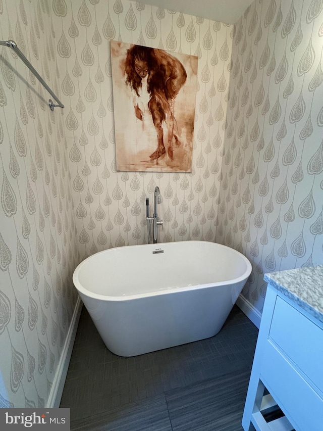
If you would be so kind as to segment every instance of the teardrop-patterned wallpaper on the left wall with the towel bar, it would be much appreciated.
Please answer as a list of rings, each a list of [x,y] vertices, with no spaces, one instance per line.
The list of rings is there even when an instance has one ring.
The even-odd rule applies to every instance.
[[[46,0],[2,0],[0,37],[60,95],[51,15]],[[77,299],[65,120],[8,47],[0,69],[0,408],[43,407]]]

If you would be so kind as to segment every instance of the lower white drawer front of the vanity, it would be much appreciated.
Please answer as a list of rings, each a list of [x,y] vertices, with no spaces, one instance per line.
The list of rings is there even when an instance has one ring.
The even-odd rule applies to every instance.
[[[323,399],[266,341],[260,379],[297,431],[322,431]]]

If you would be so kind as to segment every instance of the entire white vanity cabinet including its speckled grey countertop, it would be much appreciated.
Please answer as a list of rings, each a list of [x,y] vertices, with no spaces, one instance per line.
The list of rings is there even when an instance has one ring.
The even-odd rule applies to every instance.
[[[312,268],[265,274],[268,287],[242,419],[245,431],[323,430],[323,267]],[[303,270],[309,273],[302,279]],[[284,273],[296,277],[296,287]],[[278,407],[280,417],[271,413],[266,419]]]

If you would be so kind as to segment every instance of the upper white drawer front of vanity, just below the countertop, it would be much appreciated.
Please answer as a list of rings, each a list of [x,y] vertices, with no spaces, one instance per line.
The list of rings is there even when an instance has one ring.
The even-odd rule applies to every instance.
[[[277,297],[269,337],[323,393],[323,329]]]

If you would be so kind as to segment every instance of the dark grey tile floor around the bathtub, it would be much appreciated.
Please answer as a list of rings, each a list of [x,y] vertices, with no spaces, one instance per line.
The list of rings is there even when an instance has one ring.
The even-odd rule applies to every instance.
[[[71,409],[71,429],[241,430],[257,334],[235,306],[215,337],[122,358],[83,307],[61,407]]]

